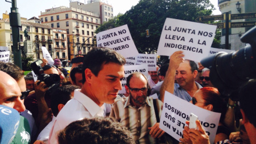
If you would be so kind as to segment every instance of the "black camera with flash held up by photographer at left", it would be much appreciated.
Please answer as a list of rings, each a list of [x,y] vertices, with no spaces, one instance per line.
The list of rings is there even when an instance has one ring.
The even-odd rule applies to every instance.
[[[41,67],[42,63],[43,61],[41,59],[38,59],[32,62],[30,65],[34,73],[37,75],[37,79],[40,82],[44,82],[46,84],[46,87],[49,87],[49,89],[51,89],[51,87],[55,87],[55,85],[59,85],[60,76],[57,74],[50,74],[50,75],[44,74],[44,70]],[[39,84],[40,82],[38,82],[37,84]]]

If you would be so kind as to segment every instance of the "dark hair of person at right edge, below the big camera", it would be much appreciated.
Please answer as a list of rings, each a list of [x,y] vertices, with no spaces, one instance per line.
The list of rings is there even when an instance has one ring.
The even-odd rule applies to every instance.
[[[241,87],[239,91],[240,108],[243,109],[249,122],[256,127],[256,79],[252,79]]]

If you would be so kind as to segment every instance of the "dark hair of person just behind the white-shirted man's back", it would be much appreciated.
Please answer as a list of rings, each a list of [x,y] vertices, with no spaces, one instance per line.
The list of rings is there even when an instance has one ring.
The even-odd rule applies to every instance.
[[[58,105],[66,105],[66,103],[71,99],[71,93],[75,89],[80,88],[76,85],[65,85],[58,87],[58,89],[51,93],[51,109],[54,116],[57,116],[59,113]]]

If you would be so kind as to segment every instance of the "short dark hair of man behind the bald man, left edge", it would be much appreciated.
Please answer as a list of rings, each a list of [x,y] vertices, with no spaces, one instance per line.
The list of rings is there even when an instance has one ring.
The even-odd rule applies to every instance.
[[[0,61],[0,70],[9,74],[15,81],[19,81],[22,77],[24,77],[23,70],[20,67],[14,65],[13,63],[6,63]]]

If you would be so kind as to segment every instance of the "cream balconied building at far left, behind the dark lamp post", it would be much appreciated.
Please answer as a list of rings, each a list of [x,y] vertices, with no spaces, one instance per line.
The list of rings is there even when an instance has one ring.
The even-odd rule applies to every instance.
[[[13,43],[12,43],[12,28],[10,26],[9,15],[3,14],[3,18],[0,20],[0,46],[9,47],[10,62],[13,62]],[[35,60],[37,58],[43,58],[42,46],[45,46],[47,50],[51,51],[53,31],[51,26],[41,23],[34,23],[27,21],[26,18],[21,19],[20,29],[20,46],[21,49],[25,48],[27,56],[32,56]],[[27,41],[24,35],[24,30],[28,31]]]

